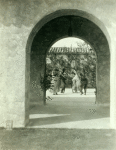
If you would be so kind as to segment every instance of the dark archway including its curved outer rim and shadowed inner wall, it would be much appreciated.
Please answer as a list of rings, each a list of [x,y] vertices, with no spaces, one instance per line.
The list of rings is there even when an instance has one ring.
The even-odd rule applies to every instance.
[[[41,91],[40,78],[45,72],[46,53],[55,41],[68,37],[69,18],[72,20],[72,36],[88,41],[97,54],[97,103],[110,102],[110,50],[106,39],[107,32],[96,18],[93,17],[91,21],[92,17],[82,11],[60,10],[46,16],[35,26],[27,43],[26,98],[31,103],[45,102],[45,91]]]

